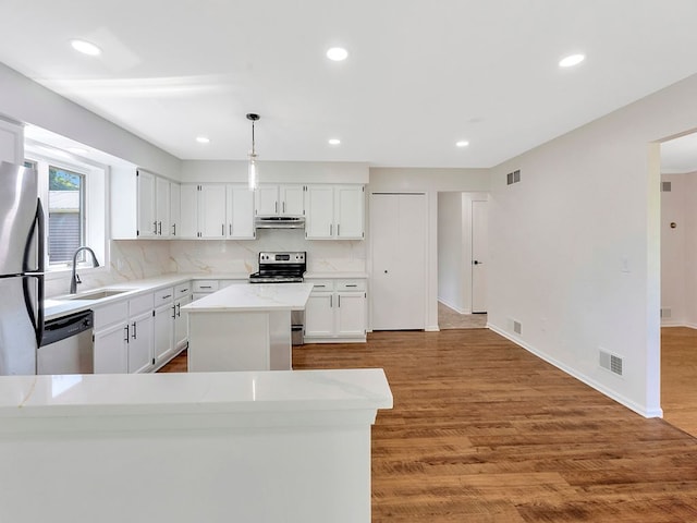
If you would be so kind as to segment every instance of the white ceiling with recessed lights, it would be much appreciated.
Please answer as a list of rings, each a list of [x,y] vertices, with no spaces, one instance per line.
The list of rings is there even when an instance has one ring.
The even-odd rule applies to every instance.
[[[491,167],[697,73],[695,21],[695,0],[2,0],[0,62],[182,159],[244,159],[258,112],[260,160]]]

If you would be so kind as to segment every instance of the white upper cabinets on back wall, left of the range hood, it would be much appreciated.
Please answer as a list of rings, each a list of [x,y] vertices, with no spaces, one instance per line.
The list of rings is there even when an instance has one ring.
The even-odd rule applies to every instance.
[[[181,238],[254,240],[254,193],[244,184],[182,184]]]

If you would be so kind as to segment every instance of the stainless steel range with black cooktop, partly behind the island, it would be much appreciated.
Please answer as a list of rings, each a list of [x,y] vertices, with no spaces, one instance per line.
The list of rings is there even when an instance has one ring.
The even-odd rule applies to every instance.
[[[259,271],[249,275],[249,283],[302,283],[307,253],[259,253]],[[304,343],[305,311],[291,312],[291,340]]]

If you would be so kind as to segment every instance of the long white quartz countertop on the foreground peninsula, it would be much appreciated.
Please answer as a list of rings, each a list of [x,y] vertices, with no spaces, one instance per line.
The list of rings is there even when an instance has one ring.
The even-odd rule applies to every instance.
[[[381,368],[0,379],[0,419],[391,408]]]

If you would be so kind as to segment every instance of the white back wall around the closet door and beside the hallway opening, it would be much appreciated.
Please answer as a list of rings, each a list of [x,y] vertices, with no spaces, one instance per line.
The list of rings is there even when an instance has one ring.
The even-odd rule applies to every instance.
[[[370,168],[368,194],[425,193],[428,200],[426,330],[438,330],[438,193],[489,191],[488,169]],[[366,231],[370,231],[367,217]],[[370,258],[370,253],[367,255]]]

